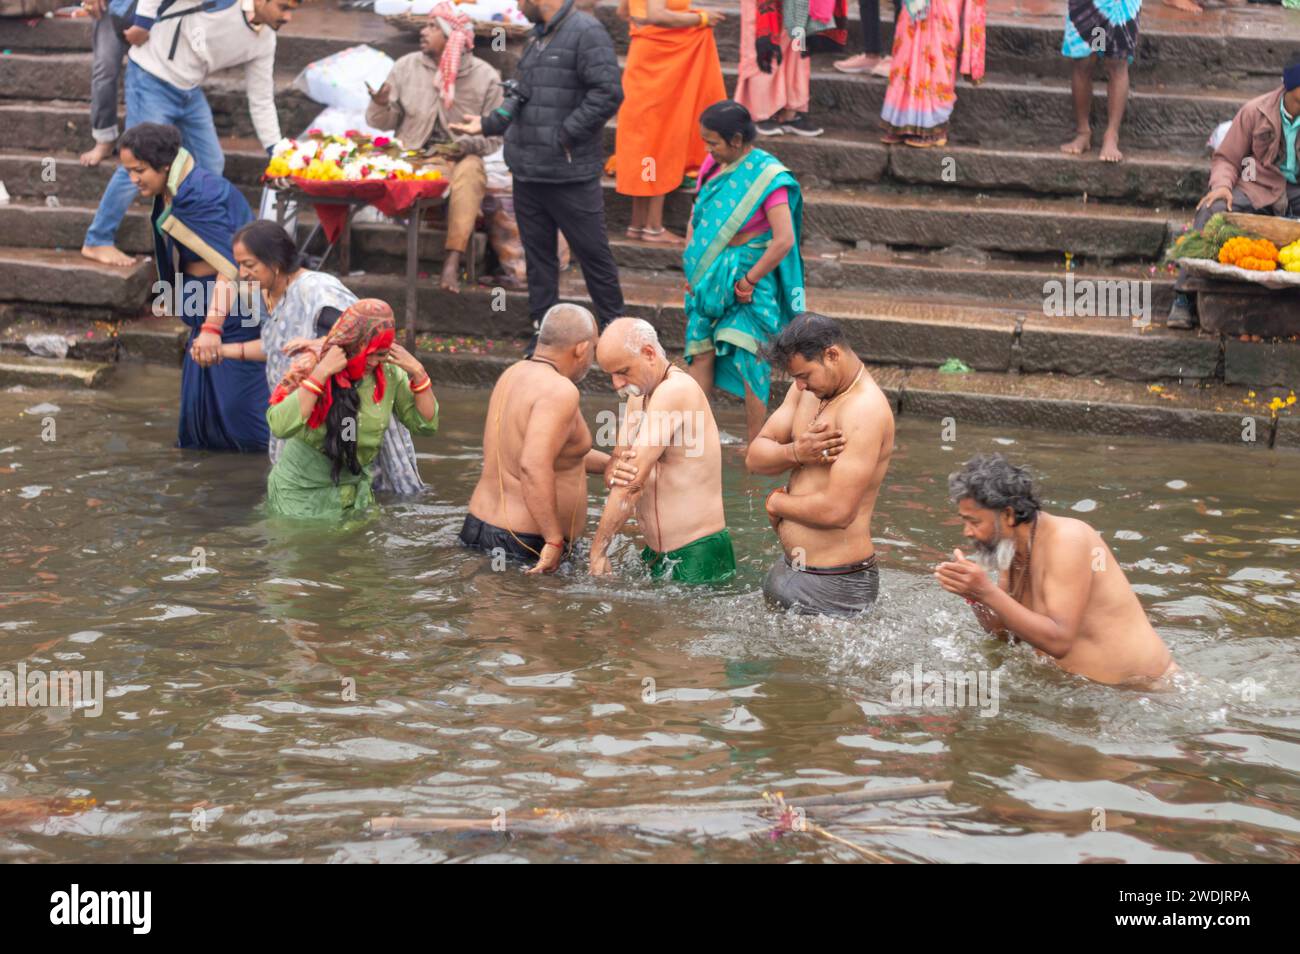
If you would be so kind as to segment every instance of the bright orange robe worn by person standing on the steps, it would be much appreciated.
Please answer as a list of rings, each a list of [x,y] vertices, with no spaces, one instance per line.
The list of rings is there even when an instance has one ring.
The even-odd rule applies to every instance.
[[[684,12],[690,0],[668,0]],[[646,16],[645,0],[630,0],[633,18]],[[699,114],[727,99],[714,31],[707,26],[629,27],[623,105],[614,144],[620,195],[666,195],[705,160]]]

